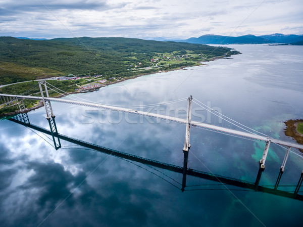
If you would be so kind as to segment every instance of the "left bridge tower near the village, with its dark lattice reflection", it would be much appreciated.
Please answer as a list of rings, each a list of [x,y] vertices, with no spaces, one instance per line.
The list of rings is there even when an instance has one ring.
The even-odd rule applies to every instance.
[[[43,87],[44,87],[44,90],[43,90]],[[55,121],[56,116],[54,115],[51,101],[45,100],[45,98],[44,98],[44,92],[45,92],[46,97],[47,98],[49,97],[45,80],[39,81],[39,88],[40,88],[42,101],[43,101],[45,111],[46,111],[46,119],[48,120],[49,128],[51,128],[55,149],[58,150],[59,148],[61,148],[61,143],[60,143],[60,139],[58,137],[58,130],[57,130],[57,125],[56,125],[56,121]],[[58,144],[56,142],[56,137],[58,139]]]

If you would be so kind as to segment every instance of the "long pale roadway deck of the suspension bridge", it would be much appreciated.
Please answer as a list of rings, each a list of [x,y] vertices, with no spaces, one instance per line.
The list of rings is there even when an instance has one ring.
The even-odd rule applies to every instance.
[[[16,96],[16,95],[6,95],[6,94],[0,94],[0,96],[6,96],[6,97],[12,97],[12,98],[17,97],[19,99],[42,100],[42,97],[35,97],[35,96]],[[60,103],[67,103],[67,104],[75,104],[75,105],[81,105],[81,106],[88,106],[88,107],[93,107],[93,108],[102,108],[102,109],[121,111],[121,112],[149,116],[149,117],[154,117],[154,118],[160,118],[163,120],[169,120],[169,121],[173,121],[173,122],[186,124],[186,119],[182,119],[182,118],[177,118],[177,117],[172,117],[172,116],[167,116],[167,115],[162,115],[162,114],[157,114],[157,113],[149,113],[149,112],[144,112],[144,111],[139,111],[139,110],[132,110],[132,109],[110,106],[110,105],[105,105],[105,104],[88,103],[88,102],[58,99],[58,98],[44,98],[44,100],[60,102]],[[299,144],[295,144],[295,143],[291,143],[291,142],[287,142],[287,141],[282,141],[282,140],[277,140],[277,139],[273,139],[273,138],[267,138],[267,137],[263,137],[261,135],[257,135],[257,134],[250,133],[250,132],[234,130],[234,129],[225,128],[225,127],[221,127],[221,126],[201,123],[201,122],[197,122],[197,121],[191,121],[190,125],[193,127],[199,127],[199,128],[204,128],[204,129],[211,130],[211,131],[216,131],[216,132],[220,132],[220,133],[224,133],[224,134],[233,135],[235,137],[240,137],[240,138],[245,138],[245,139],[250,139],[250,140],[271,141],[272,143],[279,144],[282,146],[287,146],[287,147],[292,147],[292,148],[297,148],[297,149],[303,150],[303,145],[299,145]]]

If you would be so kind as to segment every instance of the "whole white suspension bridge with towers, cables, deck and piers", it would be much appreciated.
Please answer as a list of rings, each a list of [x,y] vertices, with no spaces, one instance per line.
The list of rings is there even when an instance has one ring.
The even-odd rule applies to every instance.
[[[146,112],[146,111],[142,111],[142,110],[137,110],[136,108],[138,108],[140,106],[107,105],[107,104],[102,104],[102,103],[89,102],[88,100],[85,100],[85,99],[82,99],[82,98],[79,98],[79,97],[73,96],[73,95],[69,96],[70,99],[51,98],[51,97],[49,97],[48,89],[53,90],[53,91],[61,94],[62,96],[67,96],[69,94],[67,94],[67,93],[64,94],[65,92],[63,90],[60,90],[59,88],[49,84],[46,81],[39,81],[38,84],[39,84],[40,94],[41,94],[40,97],[0,94],[0,102],[5,104],[6,106],[16,105],[16,106],[19,107],[20,111],[22,112],[22,111],[25,110],[25,105],[24,105],[24,102],[23,102],[24,99],[42,101],[43,104],[44,104],[44,107],[45,107],[46,119],[49,122],[49,127],[51,128],[51,134],[53,135],[54,144],[55,144],[56,149],[59,149],[61,147],[61,145],[60,145],[59,137],[57,137],[57,140],[59,140],[58,141],[59,143],[56,143],[55,135],[59,135],[59,133],[58,133],[58,130],[57,130],[57,127],[56,127],[55,115],[54,115],[54,112],[53,112],[51,102],[60,102],[60,103],[65,103],[65,104],[80,105],[80,106],[86,106],[86,107],[92,107],[92,108],[102,108],[102,109],[114,110],[114,111],[119,111],[119,112],[125,112],[125,113],[130,113],[130,114],[135,114],[135,115],[147,116],[147,117],[151,117],[151,118],[157,118],[157,119],[177,122],[177,123],[181,123],[181,124],[186,124],[185,143],[184,143],[184,148],[183,148],[184,153],[188,153],[188,150],[190,148],[190,127],[203,128],[203,129],[206,129],[206,130],[215,131],[215,132],[231,135],[233,137],[238,137],[238,138],[243,138],[243,139],[248,139],[248,140],[264,141],[265,142],[265,148],[264,148],[263,155],[260,159],[260,171],[263,171],[265,169],[265,161],[266,161],[266,158],[267,158],[267,155],[268,155],[268,152],[269,152],[270,144],[271,143],[277,144],[278,146],[281,146],[281,147],[285,148],[285,150],[286,150],[285,156],[284,156],[281,168],[280,168],[280,174],[279,174],[279,178],[278,178],[277,182],[280,181],[282,173],[284,172],[286,161],[287,161],[289,153],[293,152],[293,151],[290,151],[290,149],[293,148],[293,149],[303,150],[303,145],[299,145],[299,144],[296,144],[296,143],[271,138],[268,135],[266,135],[264,133],[261,133],[259,131],[256,131],[254,129],[251,129],[251,128],[243,125],[243,124],[240,124],[239,122],[234,121],[231,118],[228,118],[227,116],[224,116],[223,114],[216,113],[212,108],[206,106],[205,104],[201,103],[198,100],[193,99],[191,96],[189,98],[187,98],[186,119],[183,119],[183,118],[163,115],[163,114],[159,114],[159,113],[151,113],[151,112]],[[57,89],[57,90],[55,90],[55,89]],[[60,90],[63,93],[58,92],[58,90]],[[184,100],[186,100],[186,98],[179,99],[179,100],[174,100],[174,101],[170,101],[170,102],[166,102],[166,103],[145,105],[145,107],[153,107],[153,106],[157,106],[157,105],[172,104],[172,103],[176,103],[176,102],[180,102],[180,101],[184,101]],[[194,102],[198,106],[206,109],[207,111],[210,111],[211,113],[215,114],[216,116],[221,117],[222,119],[226,120],[227,122],[229,122],[233,125],[236,125],[237,127],[239,127],[242,130],[235,130],[235,129],[231,129],[231,128],[227,128],[227,127],[207,124],[207,123],[198,122],[198,121],[192,121],[191,120],[192,102]],[[23,114],[21,116],[23,118],[23,120],[22,120],[23,122],[29,123],[27,115],[25,116]],[[223,118],[223,116],[225,118]],[[293,152],[293,153],[295,153],[295,152]],[[186,169],[187,169],[187,164],[186,164]],[[184,171],[186,169],[183,168]],[[186,174],[185,174],[185,176],[186,176]],[[301,176],[300,176],[300,179],[299,179],[299,184],[297,186],[297,189],[295,190],[295,194],[299,190],[299,188],[302,184],[302,181],[303,181],[303,171],[301,172]]]

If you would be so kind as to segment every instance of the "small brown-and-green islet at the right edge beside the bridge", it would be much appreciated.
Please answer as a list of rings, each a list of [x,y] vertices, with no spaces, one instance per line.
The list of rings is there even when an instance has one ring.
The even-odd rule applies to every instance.
[[[298,144],[303,144],[303,119],[288,120],[284,123],[286,125],[285,135],[292,137]],[[299,150],[303,152],[303,150]]]

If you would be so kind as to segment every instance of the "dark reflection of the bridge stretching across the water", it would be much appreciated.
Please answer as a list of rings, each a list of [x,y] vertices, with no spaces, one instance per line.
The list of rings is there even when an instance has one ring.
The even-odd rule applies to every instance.
[[[245,180],[240,180],[240,179],[236,179],[236,178],[231,178],[231,177],[226,177],[226,176],[222,176],[222,175],[217,175],[217,174],[213,174],[213,173],[209,173],[209,172],[204,172],[204,171],[199,171],[199,170],[194,170],[191,168],[187,168],[187,160],[188,160],[188,152],[184,151],[184,158],[183,158],[183,166],[176,166],[176,165],[172,165],[172,164],[168,164],[168,163],[163,163],[163,162],[159,162],[159,161],[155,161],[155,160],[151,160],[151,159],[147,159],[147,158],[143,158],[140,156],[136,156],[136,155],[132,155],[132,154],[128,154],[128,153],[124,153],[124,152],[120,152],[117,150],[113,150],[113,149],[109,149],[109,148],[105,148],[99,145],[95,145],[95,144],[91,144],[91,143],[87,143],[85,141],[81,141],[78,139],[74,139],[71,137],[68,137],[67,135],[63,135],[58,133],[57,131],[57,126],[56,126],[56,121],[55,121],[55,117],[48,119],[49,122],[49,128],[45,129],[36,125],[33,125],[30,123],[29,119],[28,119],[28,115],[27,114],[17,114],[14,115],[13,118],[9,119],[10,121],[16,122],[18,124],[24,125],[25,127],[37,130],[39,132],[51,135],[53,137],[53,141],[54,141],[54,145],[55,145],[55,149],[58,150],[61,148],[61,142],[60,140],[64,140],[70,143],[73,143],[75,145],[79,145],[88,149],[92,149],[98,152],[102,152],[105,154],[109,154],[112,156],[116,156],[119,158],[122,158],[126,161],[130,160],[130,161],[135,161],[138,163],[142,163],[144,165],[148,165],[148,166],[154,166],[154,167],[158,167],[161,169],[166,169],[166,170],[170,170],[176,173],[181,173],[182,174],[182,188],[180,188],[180,190],[183,191],[193,191],[193,190],[187,190],[186,189],[186,176],[194,176],[194,177],[198,177],[198,178],[203,178],[203,179],[207,179],[207,180],[212,180],[212,181],[216,181],[222,185],[231,185],[231,186],[236,186],[242,189],[246,189],[247,191],[256,191],[256,192],[264,192],[264,193],[269,193],[269,194],[274,194],[274,195],[278,195],[278,196],[282,196],[282,197],[287,197],[287,198],[292,198],[292,199],[296,199],[296,200],[301,200],[303,201],[303,195],[298,194],[300,186],[302,184],[303,181],[303,172],[301,173],[301,176],[299,178],[298,184],[296,186],[296,189],[294,192],[286,192],[286,191],[281,191],[278,190],[278,186],[280,183],[280,179],[282,177],[283,172],[280,170],[276,184],[274,186],[274,188],[268,188],[268,187],[264,187],[264,186],[259,186],[259,182],[262,176],[262,172],[264,171],[264,169],[259,168],[259,171],[257,173],[257,177],[256,177],[256,181],[254,183],[249,182],[249,181],[245,181]],[[194,189],[194,190],[204,190],[204,189]],[[208,189],[209,190],[209,189]],[[214,190],[218,190],[218,189],[214,189]],[[223,189],[223,190],[229,190],[229,189]],[[241,190],[241,189],[239,189]]]

